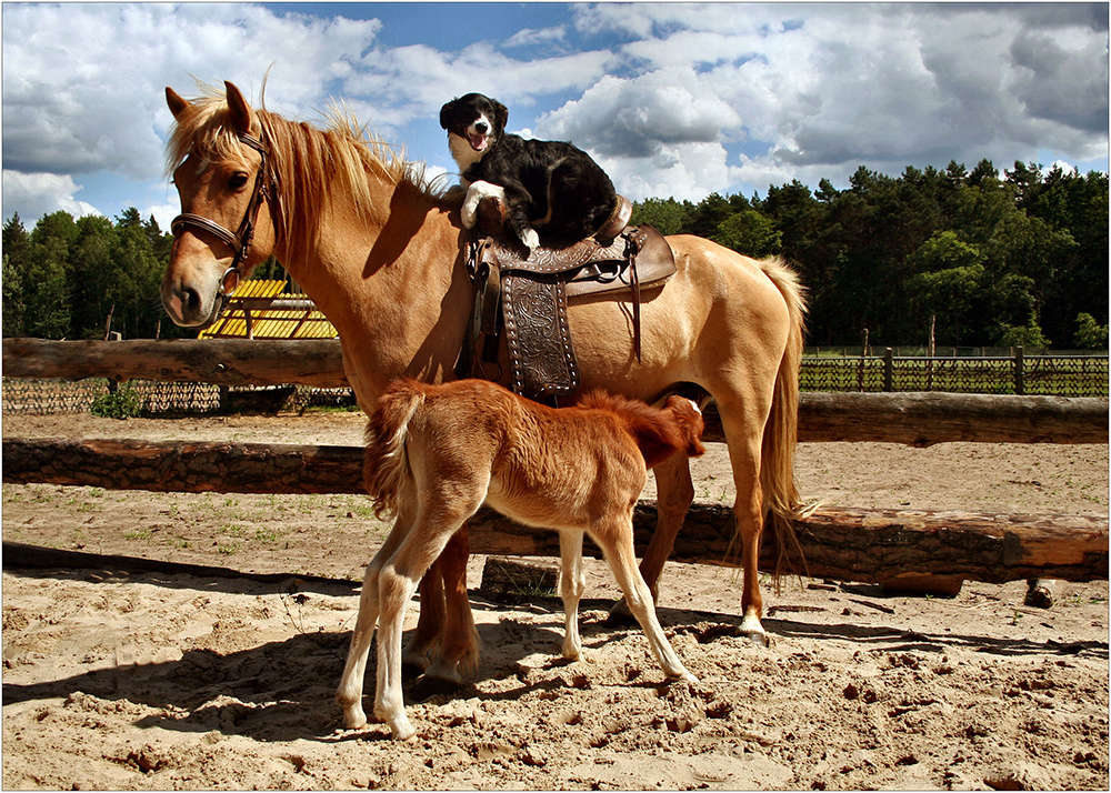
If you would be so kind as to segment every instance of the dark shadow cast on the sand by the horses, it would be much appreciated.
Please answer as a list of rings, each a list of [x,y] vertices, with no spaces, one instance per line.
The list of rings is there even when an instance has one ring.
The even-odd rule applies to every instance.
[[[72,572],[67,571],[60,578],[70,578]],[[36,574],[49,575],[43,571]],[[194,583],[199,590],[207,589],[206,582]],[[167,581],[167,585],[179,588],[187,583],[176,578]],[[351,586],[342,586],[341,590],[354,593]],[[428,686],[421,677],[410,680],[406,685],[407,702],[447,704],[452,700],[472,697],[513,701],[533,691],[554,691],[575,685],[573,674],[530,675],[520,664],[527,656],[540,654],[548,656],[542,662],[547,666],[569,665],[560,658],[563,631],[562,603],[558,598],[536,598],[528,603],[507,606],[472,593],[471,604],[476,611],[503,612],[513,608],[550,615],[551,619],[543,620],[542,624],[508,619],[480,623],[478,630],[486,650],[480,656],[477,673],[469,675],[468,682],[453,691]],[[602,599],[581,601],[580,630],[587,650],[595,653],[620,652],[618,648],[607,648],[640,630],[634,624],[610,624],[604,614],[611,605],[611,601]],[[677,635],[692,634],[700,645],[723,638],[741,638],[741,618],[738,615],[667,606],[659,608],[658,614],[667,630]],[[773,646],[777,636],[782,636],[838,639],[865,648],[882,646],[891,652],[944,652],[949,648],[963,646],[1002,656],[1085,653],[1108,658],[1105,642],[1041,643],[1021,638],[921,633],[887,625],[811,623],[771,618],[764,620],[764,625],[772,636]],[[341,712],[333,696],[350,638],[348,630],[299,632],[284,640],[228,654],[208,649],[189,650],[177,661],[98,669],[41,683],[4,682],[3,702],[10,705],[60,699],[66,706],[81,706],[79,694],[83,693],[99,700],[128,701],[158,709],[158,713],[137,722],[142,727],[196,733],[218,731],[261,741],[388,739],[389,729],[384,725],[371,725],[356,733],[341,731]],[[747,641],[739,643],[738,648],[741,653],[760,652]],[[368,705],[373,697],[374,667],[376,653],[372,649],[367,671]],[[514,676],[520,685],[499,693],[483,692],[478,687],[483,681]],[[651,682],[657,676],[644,675],[630,680],[628,684],[658,686],[659,682]]]

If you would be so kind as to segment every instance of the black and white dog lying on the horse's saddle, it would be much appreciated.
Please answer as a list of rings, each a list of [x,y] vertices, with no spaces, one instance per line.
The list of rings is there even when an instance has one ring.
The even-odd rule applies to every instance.
[[[598,231],[617,205],[613,183],[590,155],[570,143],[506,133],[509,110],[481,93],[440,109],[440,126],[467,187],[462,222],[476,222],[479,202],[499,195],[509,229],[530,250],[565,245]]]

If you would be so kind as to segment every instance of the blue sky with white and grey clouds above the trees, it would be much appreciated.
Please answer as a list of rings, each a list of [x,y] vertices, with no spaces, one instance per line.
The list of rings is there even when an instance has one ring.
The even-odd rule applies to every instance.
[[[440,106],[570,140],[632,199],[838,188],[861,164],[1108,169],[1108,6],[1080,3],[14,3],[3,207],[178,213],[163,88],[231,80],[287,118],[343,99],[432,172]]]

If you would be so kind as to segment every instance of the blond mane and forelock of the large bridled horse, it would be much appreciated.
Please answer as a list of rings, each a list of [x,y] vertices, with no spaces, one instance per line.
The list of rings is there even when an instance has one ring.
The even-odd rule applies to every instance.
[[[217,159],[246,159],[247,148],[234,130],[223,90],[198,86],[201,96],[190,100],[167,142],[167,173],[190,154],[199,157],[202,167]],[[429,178],[424,163],[408,161],[403,149],[360,127],[338,103],[326,111],[323,129],[266,110],[264,99],[261,106],[254,111],[261,129],[251,132],[269,148],[279,207],[274,224],[287,241],[313,245],[320,233],[321,210],[337,195],[348,197],[360,214],[372,212],[372,175],[437,207],[450,208],[458,202],[440,187],[442,178]]]

